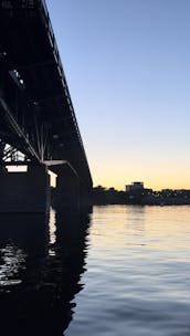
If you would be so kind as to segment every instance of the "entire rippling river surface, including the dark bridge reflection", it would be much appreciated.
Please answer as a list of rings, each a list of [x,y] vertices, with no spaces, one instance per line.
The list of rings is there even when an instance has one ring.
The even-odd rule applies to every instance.
[[[190,335],[189,206],[0,223],[2,336]]]

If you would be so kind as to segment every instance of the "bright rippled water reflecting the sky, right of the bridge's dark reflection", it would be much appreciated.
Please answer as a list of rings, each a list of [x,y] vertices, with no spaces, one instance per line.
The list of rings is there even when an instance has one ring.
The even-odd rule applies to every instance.
[[[66,336],[190,335],[190,207],[95,207]]]

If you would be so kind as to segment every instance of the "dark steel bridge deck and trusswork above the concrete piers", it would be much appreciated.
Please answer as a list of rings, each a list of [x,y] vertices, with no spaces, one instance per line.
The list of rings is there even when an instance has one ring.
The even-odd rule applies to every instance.
[[[0,0],[0,164],[64,161],[92,188],[44,1]]]

